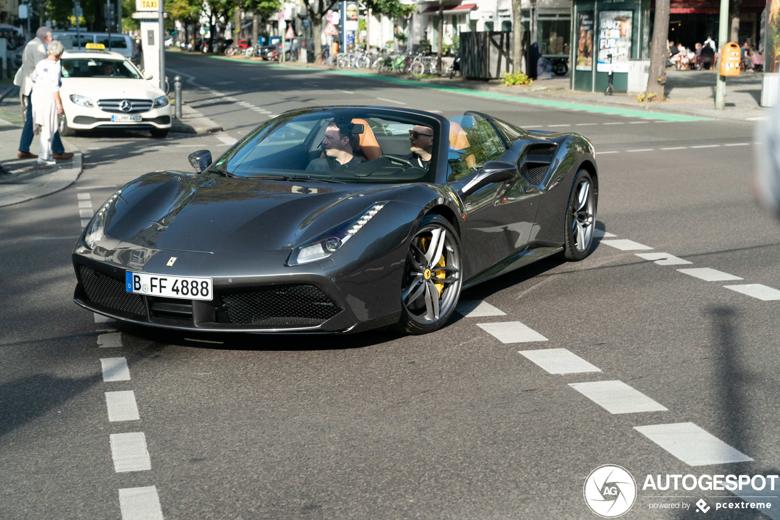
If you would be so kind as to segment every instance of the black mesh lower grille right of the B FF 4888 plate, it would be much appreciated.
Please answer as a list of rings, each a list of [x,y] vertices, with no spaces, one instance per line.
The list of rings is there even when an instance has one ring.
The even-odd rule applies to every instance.
[[[222,295],[232,324],[316,327],[339,313],[314,285],[287,285]]]

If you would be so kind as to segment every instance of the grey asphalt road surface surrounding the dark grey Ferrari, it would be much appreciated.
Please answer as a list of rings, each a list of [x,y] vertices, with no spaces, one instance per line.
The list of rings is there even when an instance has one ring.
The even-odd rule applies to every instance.
[[[750,193],[752,123],[655,122],[172,53],[168,67],[191,76],[185,100],[224,133],[73,138],[87,164],[75,186],[0,208],[0,517],[122,518],[118,490],[155,486],[168,519],[597,518],[583,483],[615,464],[639,486],[625,518],[765,518],[716,510],[742,503],[727,490],[642,489],[648,474],[780,469],[780,306],[723,287],[780,288],[780,223]],[[189,171],[191,150],[217,154],[271,115],[335,103],[584,133],[598,153],[599,228],[615,237],[582,262],[542,260],[464,292],[503,314],[456,314],[419,337],[170,334],[96,323],[73,303],[80,201],[97,208],[144,172]],[[546,341],[488,332],[505,322]],[[600,371],[551,373],[566,352],[552,365],[519,353],[547,349]],[[119,357],[129,379],[105,382],[101,359]],[[599,385],[570,386],[598,381],[633,387],[629,412],[611,413]],[[118,391],[133,391],[140,419],[109,421],[106,392]],[[635,429],[680,423],[710,437],[696,430],[675,447],[672,426],[655,440]],[[110,436],[140,432],[151,469],[116,472]],[[740,455],[752,460],[728,462]],[[780,490],[752,493],[778,504]],[[133,511],[154,512],[141,503]],[[664,503],[681,506],[651,509]],[[780,518],[776,508],[764,512]]]

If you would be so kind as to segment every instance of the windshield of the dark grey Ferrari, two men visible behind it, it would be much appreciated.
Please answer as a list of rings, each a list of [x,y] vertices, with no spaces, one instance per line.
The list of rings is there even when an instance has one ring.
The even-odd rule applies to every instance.
[[[209,168],[244,179],[434,182],[439,123],[371,108],[313,108],[278,115]]]

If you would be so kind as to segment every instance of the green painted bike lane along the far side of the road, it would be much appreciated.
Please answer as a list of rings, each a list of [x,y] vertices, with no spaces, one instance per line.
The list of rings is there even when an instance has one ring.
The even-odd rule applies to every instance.
[[[225,56],[209,56],[213,59],[224,59],[230,62],[236,63],[235,59],[226,58]],[[483,90],[471,90],[461,87],[448,87],[446,85],[434,85],[431,83],[423,83],[412,80],[404,80],[402,78],[394,78],[388,76],[378,76],[377,74],[370,73],[356,73],[349,70],[324,70],[324,69],[304,69],[301,67],[295,67],[292,65],[281,65],[277,63],[263,63],[263,62],[239,62],[251,65],[265,65],[283,67],[285,69],[300,70],[307,72],[317,73],[332,73],[342,74],[344,76],[353,76],[359,78],[365,78],[367,80],[384,81],[385,83],[395,83],[398,85],[405,85],[407,87],[427,88],[432,90],[442,90],[450,92],[452,94],[463,94],[465,96],[485,97],[488,99],[496,99],[501,101],[512,101],[513,103],[525,103],[535,104],[538,106],[554,107],[554,108],[566,108],[569,110],[578,110],[584,112],[594,112],[597,114],[607,115],[627,115],[644,119],[657,119],[659,121],[712,121],[711,118],[703,118],[695,115],[680,115],[680,114],[667,114],[664,112],[647,112],[644,110],[631,110],[630,108],[616,108],[616,107],[602,107],[596,104],[583,104],[583,103],[569,103],[567,101],[555,101],[551,99],[539,99],[537,97],[522,97],[522,96],[509,96],[507,94],[498,94],[495,92],[484,92]]]

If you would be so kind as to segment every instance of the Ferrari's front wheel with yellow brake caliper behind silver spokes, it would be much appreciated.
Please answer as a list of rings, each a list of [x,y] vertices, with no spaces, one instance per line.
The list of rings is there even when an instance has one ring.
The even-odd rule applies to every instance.
[[[447,323],[460,297],[460,239],[441,215],[426,215],[406,253],[401,280],[401,319],[392,329],[427,334]]]

